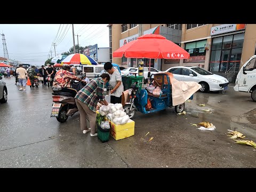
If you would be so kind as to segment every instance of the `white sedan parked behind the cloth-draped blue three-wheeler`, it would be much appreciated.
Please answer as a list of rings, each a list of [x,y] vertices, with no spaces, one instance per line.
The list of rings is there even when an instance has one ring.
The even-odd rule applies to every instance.
[[[202,85],[201,92],[221,91],[228,88],[228,79],[220,75],[215,75],[200,67],[171,67],[165,72],[173,74],[178,81],[192,81]]]

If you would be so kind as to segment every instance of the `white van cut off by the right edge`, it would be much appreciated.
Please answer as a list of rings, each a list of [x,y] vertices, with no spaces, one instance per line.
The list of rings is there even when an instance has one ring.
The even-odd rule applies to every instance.
[[[244,63],[237,74],[235,84],[235,91],[251,93],[252,100],[256,102],[256,55]]]

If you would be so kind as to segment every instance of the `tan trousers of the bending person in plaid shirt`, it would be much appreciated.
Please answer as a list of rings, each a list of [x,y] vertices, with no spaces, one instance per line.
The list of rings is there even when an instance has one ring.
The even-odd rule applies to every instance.
[[[97,114],[89,109],[89,107],[86,105],[86,103],[79,101],[76,99],[76,106],[78,108],[79,114],[80,114],[80,123],[81,123],[81,130],[87,130],[87,125],[86,125],[86,117],[89,118],[90,122],[90,128],[91,128],[91,133],[94,134],[96,133],[96,116]]]

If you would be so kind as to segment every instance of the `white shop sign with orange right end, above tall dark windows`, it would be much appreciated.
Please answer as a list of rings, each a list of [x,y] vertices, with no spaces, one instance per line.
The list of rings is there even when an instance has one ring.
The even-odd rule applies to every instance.
[[[211,28],[211,35],[218,35],[222,33],[228,33],[231,31],[245,29],[246,24],[224,24]]]

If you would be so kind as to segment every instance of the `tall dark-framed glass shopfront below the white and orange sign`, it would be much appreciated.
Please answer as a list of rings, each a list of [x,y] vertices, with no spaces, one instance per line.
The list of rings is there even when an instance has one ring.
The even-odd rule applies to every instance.
[[[213,38],[209,70],[212,72],[225,72],[229,69],[238,71],[243,43],[244,33]]]

